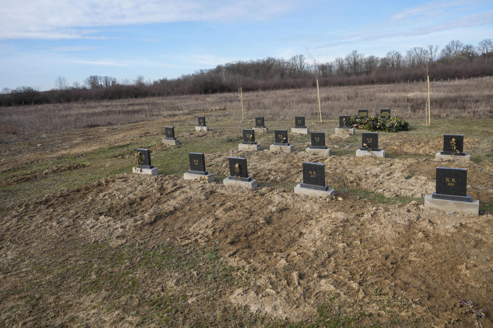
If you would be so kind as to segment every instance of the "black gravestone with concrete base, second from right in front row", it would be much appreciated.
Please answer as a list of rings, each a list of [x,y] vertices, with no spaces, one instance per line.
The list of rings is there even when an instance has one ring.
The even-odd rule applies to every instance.
[[[303,182],[294,187],[294,193],[314,197],[333,196],[334,190],[325,184],[325,164],[303,162]]]

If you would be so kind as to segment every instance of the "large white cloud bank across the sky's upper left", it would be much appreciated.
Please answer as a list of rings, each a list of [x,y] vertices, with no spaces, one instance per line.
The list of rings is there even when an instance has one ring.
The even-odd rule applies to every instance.
[[[0,7],[0,39],[101,38],[91,27],[167,22],[264,20],[293,8],[289,1],[19,0]],[[213,26],[214,27],[214,26]],[[217,29],[217,28],[216,28]]]

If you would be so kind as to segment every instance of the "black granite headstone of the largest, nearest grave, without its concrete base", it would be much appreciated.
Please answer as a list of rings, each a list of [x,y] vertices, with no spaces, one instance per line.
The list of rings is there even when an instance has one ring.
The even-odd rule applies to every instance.
[[[437,168],[437,191],[431,197],[471,202],[466,189],[467,169]]]

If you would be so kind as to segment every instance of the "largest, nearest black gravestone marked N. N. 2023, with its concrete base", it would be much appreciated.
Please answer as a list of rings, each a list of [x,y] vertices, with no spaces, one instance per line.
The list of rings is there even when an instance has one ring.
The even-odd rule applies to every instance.
[[[467,169],[437,168],[436,192],[425,196],[425,207],[479,214],[479,200],[466,194]]]

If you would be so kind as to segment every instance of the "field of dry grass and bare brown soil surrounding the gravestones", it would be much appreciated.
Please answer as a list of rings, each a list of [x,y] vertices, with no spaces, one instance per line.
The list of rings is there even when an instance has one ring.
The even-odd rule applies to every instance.
[[[433,84],[430,127],[418,84],[322,89],[323,124],[306,89],[244,94],[245,122],[236,94],[1,108],[0,326],[491,327],[492,88]],[[386,158],[354,156],[362,130],[333,134],[362,108],[411,124],[380,133]],[[306,153],[308,135],[265,150],[295,115],[333,156]],[[238,151],[255,116],[264,151]],[[179,146],[161,142],[170,125]],[[445,133],[471,162],[434,160]],[[136,148],[159,176],[131,174]],[[183,180],[188,152],[215,183]],[[248,158],[257,190],[222,185],[228,156]],[[326,164],[335,199],[293,193],[305,160]],[[438,166],[468,169],[479,216],[424,208]]]

